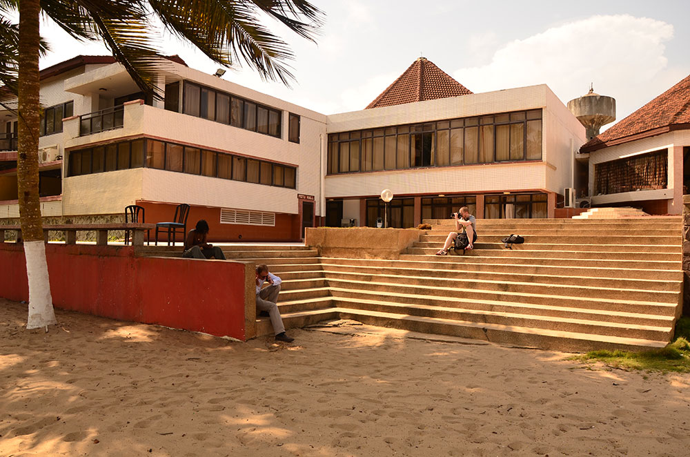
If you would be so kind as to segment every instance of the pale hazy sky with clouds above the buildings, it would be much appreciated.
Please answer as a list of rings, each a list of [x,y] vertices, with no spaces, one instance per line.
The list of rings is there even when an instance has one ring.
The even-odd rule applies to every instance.
[[[423,56],[474,93],[546,84],[566,104],[593,84],[616,99],[619,121],[690,74],[687,0],[312,2],[326,14],[317,43],[267,23],[295,54],[291,88],[262,81],[246,65],[223,78],[319,113],[343,113],[364,108]],[[108,54],[48,21],[41,30],[52,46],[41,68]],[[167,32],[160,46],[197,70],[219,67]]]

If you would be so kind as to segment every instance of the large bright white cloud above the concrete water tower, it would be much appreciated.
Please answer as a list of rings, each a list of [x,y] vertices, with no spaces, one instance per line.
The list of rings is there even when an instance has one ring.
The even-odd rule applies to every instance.
[[[453,77],[475,93],[547,84],[564,103],[593,82],[595,92],[615,97],[622,119],[673,84],[664,56],[671,38],[673,26],[655,19],[593,16],[506,43],[489,64]]]

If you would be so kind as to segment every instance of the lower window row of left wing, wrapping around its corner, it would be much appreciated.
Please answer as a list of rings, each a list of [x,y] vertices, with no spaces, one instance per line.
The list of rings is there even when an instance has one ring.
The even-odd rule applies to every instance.
[[[70,176],[142,166],[287,188],[295,188],[297,173],[297,168],[292,166],[153,139],[135,139],[69,153]]]

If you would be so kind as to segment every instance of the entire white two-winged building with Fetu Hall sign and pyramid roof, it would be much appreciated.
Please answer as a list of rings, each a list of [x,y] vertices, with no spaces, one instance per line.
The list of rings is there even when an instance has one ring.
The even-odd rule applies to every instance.
[[[545,86],[473,94],[424,58],[366,109],[322,115],[164,60],[146,99],[112,57],[41,71],[41,209],[146,222],[190,204],[213,240],[299,240],[305,226],[554,217],[584,127]],[[18,217],[16,115],[0,110],[0,219]]]

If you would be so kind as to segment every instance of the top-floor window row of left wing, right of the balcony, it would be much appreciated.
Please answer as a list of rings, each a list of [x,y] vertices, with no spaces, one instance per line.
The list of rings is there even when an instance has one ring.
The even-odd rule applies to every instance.
[[[182,113],[221,124],[281,137],[282,111],[184,81]],[[168,96],[168,94],[170,94]],[[166,109],[178,110],[179,83],[166,86]],[[289,115],[288,140],[299,143],[299,116]]]

